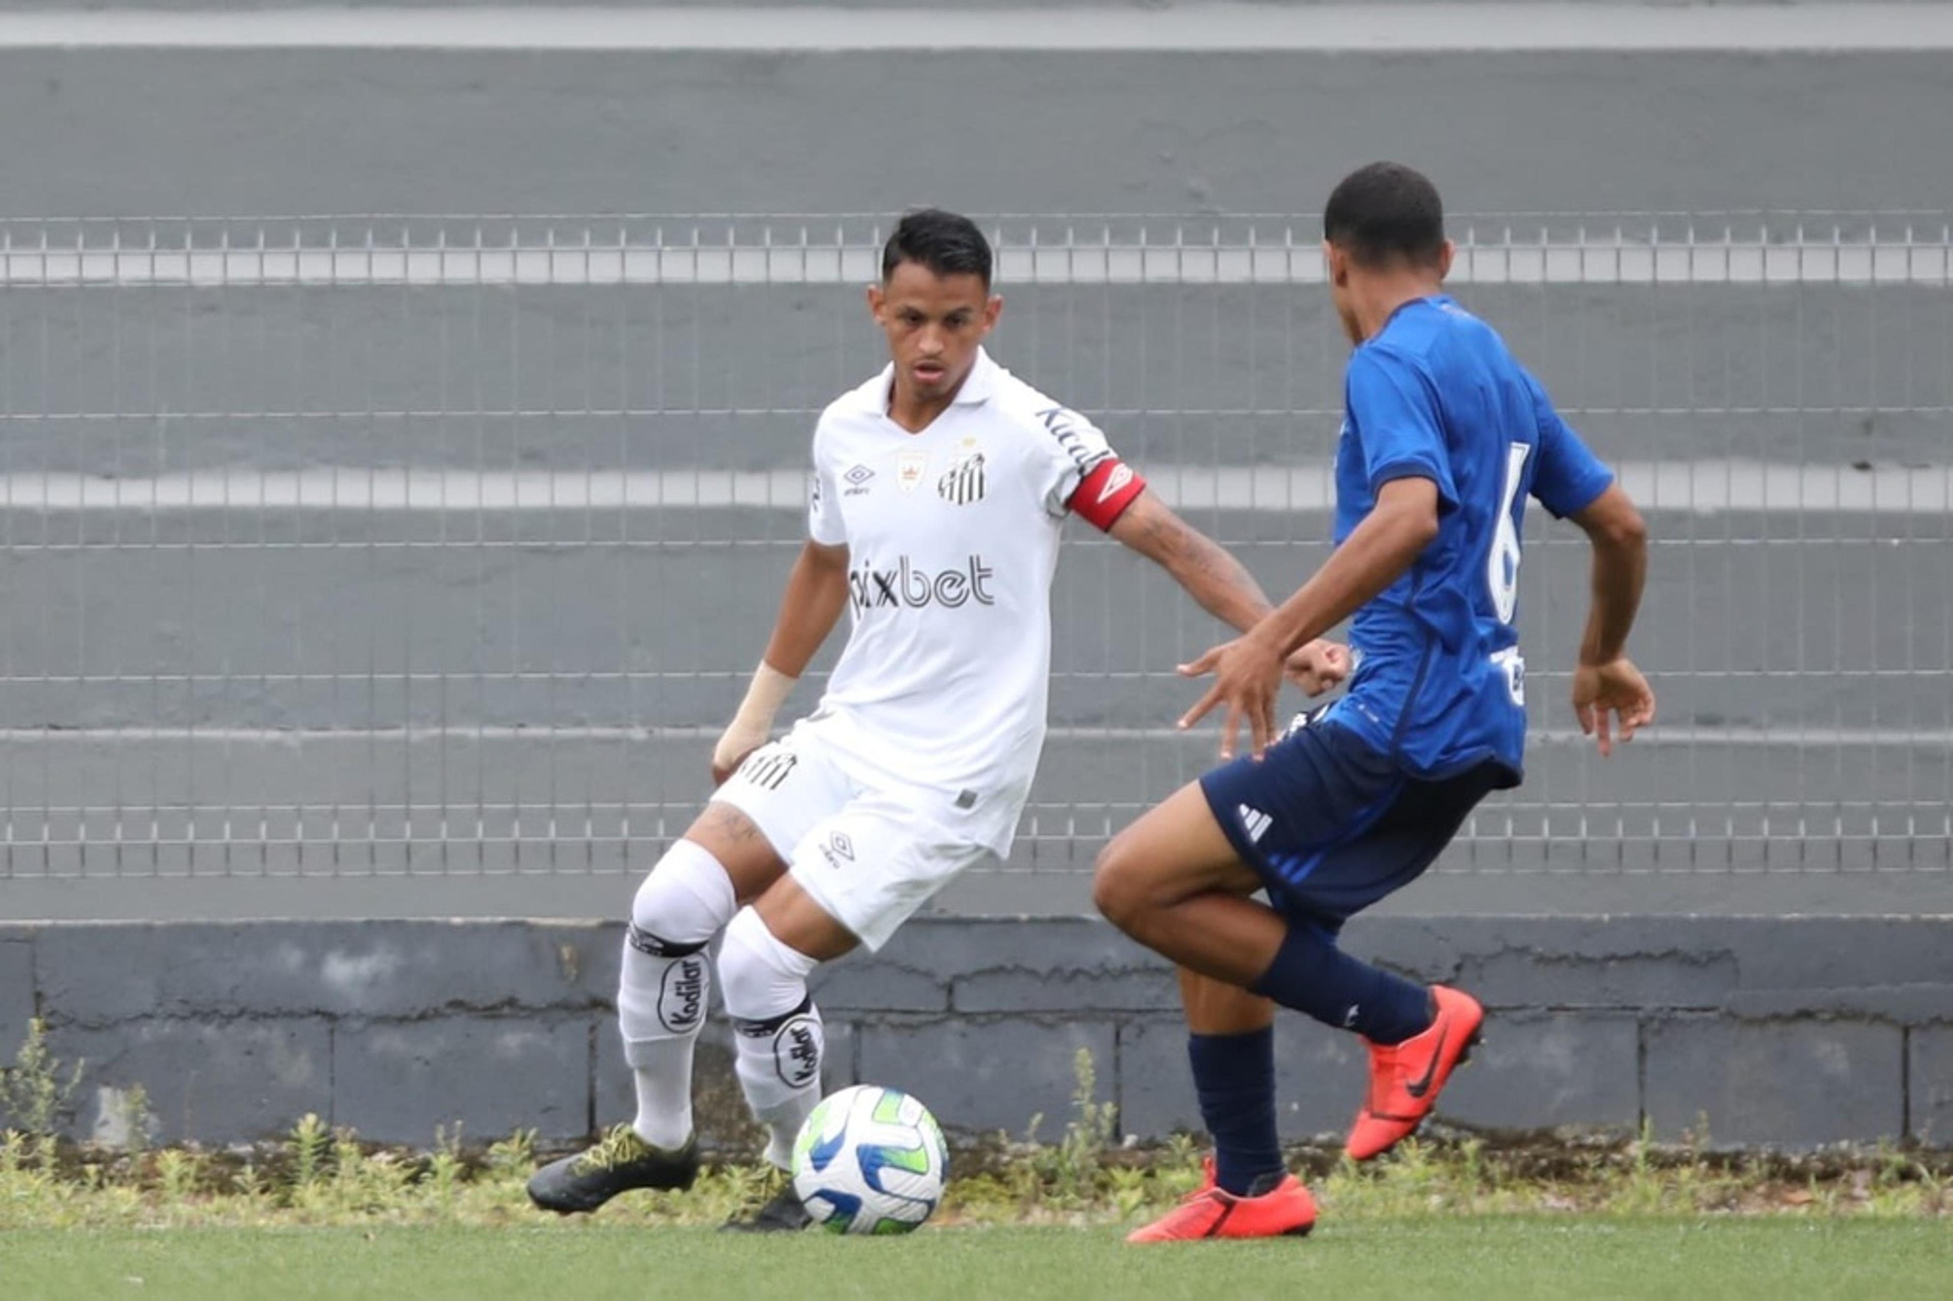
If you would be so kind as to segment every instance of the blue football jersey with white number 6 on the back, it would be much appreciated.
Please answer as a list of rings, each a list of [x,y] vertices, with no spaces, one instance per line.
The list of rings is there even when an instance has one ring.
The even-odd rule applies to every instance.
[[[1437,484],[1437,537],[1353,619],[1357,658],[1328,717],[1418,777],[1525,756],[1519,555],[1525,498],[1584,510],[1613,473],[1504,340],[1449,297],[1406,303],[1350,357],[1336,543],[1392,479]]]

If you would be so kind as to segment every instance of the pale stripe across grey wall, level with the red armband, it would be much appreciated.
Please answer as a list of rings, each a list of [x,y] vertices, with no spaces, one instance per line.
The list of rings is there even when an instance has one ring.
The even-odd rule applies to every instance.
[[[1146,481],[1176,510],[1297,512],[1334,506],[1328,465],[1152,465]],[[1953,510],[1953,465],[1883,465],[1869,471],[1766,461],[1627,461],[1621,484],[1646,510],[1943,514]],[[588,512],[805,508],[807,473],[213,469],[152,479],[33,473],[0,475],[0,510],[53,512]],[[465,545],[457,541],[455,545]]]

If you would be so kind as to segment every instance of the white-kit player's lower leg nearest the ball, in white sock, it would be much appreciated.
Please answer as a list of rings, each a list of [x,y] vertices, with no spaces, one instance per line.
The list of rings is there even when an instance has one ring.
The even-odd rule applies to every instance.
[[[773,881],[727,928],[719,985],[732,1018],[738,1082],[768,1129],[766,1156],[781,1170],[791,1170],[793,1139],[820,1102],[826,1035],[807,977],[857,944],[791,875]],[[754,1215],[727,1229],[779,1233],[809,1223],[787,1182]]]

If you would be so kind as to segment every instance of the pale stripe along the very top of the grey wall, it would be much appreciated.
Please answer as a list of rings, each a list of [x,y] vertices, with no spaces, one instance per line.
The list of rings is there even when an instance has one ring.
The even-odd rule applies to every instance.
[[[1928,4],[1178,4],[1123,8],[295,8],[0,16],[0,49],[1933,51]]]

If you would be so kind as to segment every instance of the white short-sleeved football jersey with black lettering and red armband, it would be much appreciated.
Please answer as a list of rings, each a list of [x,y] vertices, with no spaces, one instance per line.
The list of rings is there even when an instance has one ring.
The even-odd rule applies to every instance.
[[[850,760],[939,793],[1008,854],[1045,744],[1059,529],[1066,510],[1111,527],[1144,483],[984,352],[920,434],[889,418],[893,379],[814,428],[809,531],[848,547],[853,615],[814,717]]]

